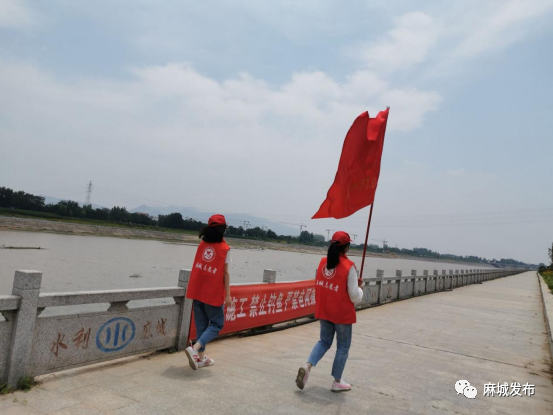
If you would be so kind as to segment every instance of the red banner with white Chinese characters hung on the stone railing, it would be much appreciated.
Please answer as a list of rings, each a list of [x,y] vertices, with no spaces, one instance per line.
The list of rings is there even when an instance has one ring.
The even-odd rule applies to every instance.
[[[315,314],[315,280],[233,285],[220,334],[235,333]],[[196,339],[194,316],[190,339]]]

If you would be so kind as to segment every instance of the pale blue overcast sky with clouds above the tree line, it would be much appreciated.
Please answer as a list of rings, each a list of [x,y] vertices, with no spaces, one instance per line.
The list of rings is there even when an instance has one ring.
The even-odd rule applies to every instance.
[[[309,218],[389,105],[371,237],[546,262],[552,23],[551,0],[0,0],[0,186],[360,242],[368,209]]]

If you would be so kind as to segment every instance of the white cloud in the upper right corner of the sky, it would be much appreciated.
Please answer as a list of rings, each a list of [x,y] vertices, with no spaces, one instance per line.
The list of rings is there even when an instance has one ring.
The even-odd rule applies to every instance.
[[[551,12],[553,0],[474,0],[452,4],[449,10],[409,12],[393,19],[383,37],[347,53],[382,74],[432,64],[439,68],[432,73],[451,75],[468,59],[526,38]]]

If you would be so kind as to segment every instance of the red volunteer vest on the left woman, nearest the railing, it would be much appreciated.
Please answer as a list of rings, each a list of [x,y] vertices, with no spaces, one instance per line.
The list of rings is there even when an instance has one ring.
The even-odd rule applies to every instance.
[[[225,241],[200,242],[194,258],[186,298],[212,306],[225,303],[225,260],[230,247]]]

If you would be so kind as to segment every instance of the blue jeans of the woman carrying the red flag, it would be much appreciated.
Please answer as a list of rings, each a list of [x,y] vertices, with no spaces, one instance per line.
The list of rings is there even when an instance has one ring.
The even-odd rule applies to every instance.
[[[317,342],[313,351],[307,359],[307,363],[311,363],[313,366],[317,366],[319,360],[325,355],[325,353],[332,346],[334,341],[334,333],[336,333],[336,341],[338,343],[336,350],[336,357],[334,357],[334,363],[332,364],[332,376],[334,379],[342,379],[342,373],[344,367],[346,367],[346,361],[348,360],[349,347],[351,346],[351,324],[334,324],[327,320],[319,320],[321,323],[321,340]]]

